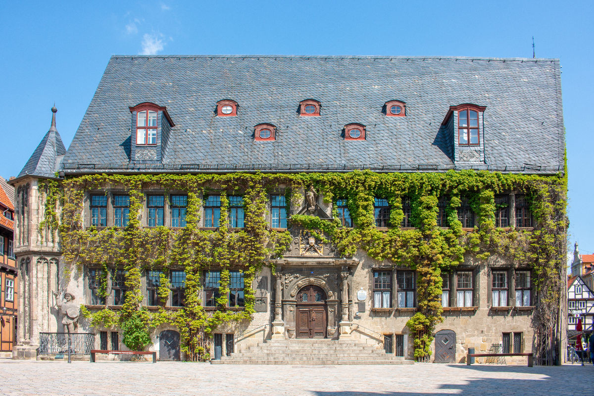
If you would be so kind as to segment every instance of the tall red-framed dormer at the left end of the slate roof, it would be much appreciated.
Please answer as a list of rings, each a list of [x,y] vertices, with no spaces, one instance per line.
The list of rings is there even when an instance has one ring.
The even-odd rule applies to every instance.
[[[129,107],[132,113],[130,160],[141,163],[160,162],[175,124],[167,108],[144,102]]]

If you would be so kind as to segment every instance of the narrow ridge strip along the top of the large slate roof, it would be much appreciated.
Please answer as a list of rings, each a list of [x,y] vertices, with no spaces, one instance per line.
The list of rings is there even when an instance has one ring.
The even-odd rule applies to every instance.
[[[559,58],[497,58],[486,56],[405,56],[405,55],[112,55],[111,58],[285,58],[285,59],[407,59],[411,61],[425,59],[460,59],[468,61],[521,61],[521,62],[539,62],[539,61],[560,61]]]

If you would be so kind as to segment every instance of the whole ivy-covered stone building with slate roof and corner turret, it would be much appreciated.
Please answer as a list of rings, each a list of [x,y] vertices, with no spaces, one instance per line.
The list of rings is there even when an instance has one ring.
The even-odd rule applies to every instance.
[[[558,68],[113,57],[70,148],[54,112],[12,181],[30,307],[21,355],[35,354],[39,331],[59,331],[52,292],[67,290],[97,349],[163,360],[329,338],[411,360],[499,348],[555,363],[567,229]],[[311,70],[319,81],[303,77]]]

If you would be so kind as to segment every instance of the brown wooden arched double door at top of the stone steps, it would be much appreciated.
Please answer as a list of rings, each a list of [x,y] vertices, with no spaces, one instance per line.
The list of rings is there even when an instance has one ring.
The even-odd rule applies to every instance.
[[[299,290],[296,300],[296,337],[326,338],[328,311],[324,290],[320,286],[309,284]]]

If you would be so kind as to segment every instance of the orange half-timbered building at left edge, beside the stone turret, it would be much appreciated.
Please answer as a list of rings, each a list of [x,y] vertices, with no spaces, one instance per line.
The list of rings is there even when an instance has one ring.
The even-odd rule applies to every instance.
[[[14,187],[0,178],[0,353],[17,340],[18,282],[14,260]]]

